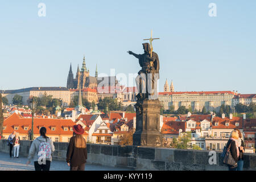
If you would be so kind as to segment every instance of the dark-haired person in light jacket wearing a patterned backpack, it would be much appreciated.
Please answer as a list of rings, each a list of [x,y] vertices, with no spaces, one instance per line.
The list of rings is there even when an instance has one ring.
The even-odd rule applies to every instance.
[[[39,133],[40,137],[31,144],[27,165],[34,160],[35,171],[49,171],[55,147],[52,140],[46,137],[46,127],[41,127]]]

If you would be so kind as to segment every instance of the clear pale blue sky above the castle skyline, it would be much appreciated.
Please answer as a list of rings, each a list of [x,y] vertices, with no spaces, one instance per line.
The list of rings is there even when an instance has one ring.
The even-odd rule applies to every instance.
[[[1,1],[0,90],[66,86],[84,55],[91,76],[96,64],[99,75],[137,74],[127,51],[143,53],[153,30],[160,92],[167,79],[178,92],[256,93],[255,9],[255,0]]]

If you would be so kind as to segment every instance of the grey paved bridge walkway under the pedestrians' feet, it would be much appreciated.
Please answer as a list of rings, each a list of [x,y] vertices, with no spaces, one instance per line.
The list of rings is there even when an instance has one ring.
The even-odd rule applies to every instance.
[[[34,163],[26,165],[27,158],[10,158],[9,154],[0,152],[0,171],[34,171]],[[130,171],[129,168],[115,168],[97,166],[92,164],[85,165],[85,171]],[[69,171],[69,166],[64,161],[53,160],[50,171]]]

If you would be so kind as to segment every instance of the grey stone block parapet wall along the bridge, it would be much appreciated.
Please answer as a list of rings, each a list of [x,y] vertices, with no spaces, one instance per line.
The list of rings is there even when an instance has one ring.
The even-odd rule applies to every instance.
[[[20,155],[27,156],[31,141],[20,141]],[[68,143],[54,142],[54,160],[65,160]],[[87,144],[89,164],[128,167],[135,170],[215,171],[228,170],[221,152],[180,150],[138,146]],[[6,140],[0,140],[0,152],[9,153]],[[210,152],[210,155],[209,155]],[[210,162],[209,162],[210,160]],[[256,155],[245,154],[245,170],[256,170]]]

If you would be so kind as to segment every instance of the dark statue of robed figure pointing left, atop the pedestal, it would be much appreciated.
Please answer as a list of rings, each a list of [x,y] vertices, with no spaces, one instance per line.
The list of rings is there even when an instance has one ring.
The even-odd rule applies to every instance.
[[[136,54],[128,51],[130,55],[133,55],[139,59],[139,65],[142,69],[138,72],[136,78],[136,84],[138,89],[137,99],[144,100],[156,100],[157,96],[157,80],[159,79],[159,59],[158,54],[151,52],[150,44],[143,43],[143,54]]]

